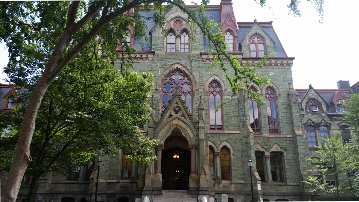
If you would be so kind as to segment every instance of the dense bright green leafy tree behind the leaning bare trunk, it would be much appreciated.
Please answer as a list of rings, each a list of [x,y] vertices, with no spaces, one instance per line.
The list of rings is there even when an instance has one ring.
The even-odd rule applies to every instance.
[[[126,76],[120,76],[110,60],[90,47],[80,53],[50,84],[39,107],[30,144],[33,161],[25,172],[33,176],[29,201],[36,181],[49,171],[66,175],[70,165],[94,162],[98,153],[89,149],[114,156],[120,148],[146,166],[156,160],[150,155],[158,141],[143,136],[136,127],[149,119],[148,113],[136,112],[149,111],[141,101],[151,94],[152,74],[127,70]],[[14,131],[1,138],[2,171],[10,170],[31,93],[19,88],[18,95],[17,102],[23,105],[1,115],[1,127],[11,125]]]

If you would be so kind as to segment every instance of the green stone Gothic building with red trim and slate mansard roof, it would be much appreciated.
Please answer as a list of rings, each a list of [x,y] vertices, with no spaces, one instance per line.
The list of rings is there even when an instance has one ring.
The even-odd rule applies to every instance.
[[[342,130],[343,138],[350,138],[348,123],[336,117],[344,112],[342,104],[350,90],[359,92],[359,82],[350,86],[349,81],[339,81],[338,89],[314,89],[311,85],[294,89],[294,58],[284,51],[272,22],[237,22],[231,0],[209,5],[205,13],[221,23],[230,44],[227,51],[239,56],[239,61],[254,65],[262,55],[276,52],[274,61],[256,70],[261,75],[274,73],[271,86],[251,87],[260,92],[266,104],[257,105],[242,91],[235,97],[238,102],[229,102],[215,113],[217,104],[230,99],[230,85],[223,79],[222,70],[208,74],[208,39],[199,29],[196,43],[187,45],[187,15],[177,7],[165,13],[166,39],[153,21],[146,23],[151,43],[143,50],[132,37],[134,28],[129,28],[127,42],[141,50],[132,54],[134,70],[154,74],[153,96],[147,101],[153,107],[152,118],[143,131],[150,138],[160,139],[153,148],[153,155],[159,159],[146,168],[127,160],[126,154],[106,156],[99,151],[98,199],[140,202],[160,188],[154,192],[154,201],[176,197],[182,198],[178,201],[197,201],[196,191],[199,200],[250,201],[247,161],[251,159],[255,201],[331,200],[330,195],[309,192],[301,182],[313,175],[307,171],[312,165],[306,158],[318,157],[314,146],[321,146],[320,137],[330,136],[333,130]],[[150,11],[141,14],[153,17]],[[114,62],[115,67],[119,65],[120,61]],[[230,68],[228,73],[233,73]],[[11,88],[2,86],[0,90],[1,97],[11,94]],[[10,110],[9,99],[0,104],[2,112]],[[94,201],[94,168],[74,166],[67,176],[50,173],[39,180],[36,196],[49,202]],[[24,178],[19,201],[26,198],[29,180]],[[353,196],[342,198],[351,200]]]

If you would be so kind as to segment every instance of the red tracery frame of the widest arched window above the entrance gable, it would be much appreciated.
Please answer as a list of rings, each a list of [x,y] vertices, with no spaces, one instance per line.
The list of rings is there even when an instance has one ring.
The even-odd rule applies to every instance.
[[[171,95],[172,96],[172,94],[175,92],[175,90],[176,90],[176,85],[175,84],[177,84],[177,83],[175,83],[175,81],[174,81],[174,79],[173,78],[170,78],[171,79],[171,81],[172,81],[172,84],[174,84],[174,86],[172,86],[172,90],[170,90],[169,92],[167,92],[167,91],[165,91],[163,88],[163,86],[164,86],[164,84],[165,83],[171,83],[171,82],[166,82],[167,81],[167,78],[168,77],[170,77],[170,76],[172,76],[172,75],[174,75],[174,74],[176,74],[176,72],[178,72],[180,75],[182,74],[183,75],[183,78],[182,79],[180,79],[181,81],[179,81],[178,82],[178,84],[181,84],[182,85],[182,82],[183,82],[183,80],[184,80],[184,78],[187,78],[187,80],[188,80],[188,82],[186,82],[186,83],[189,83],[190,85],[191,85],[191,90],[190,91],[187,91],[187,92],[183,92],[184,94],[185,94],[185,100],[186,100],[186,102],[185,102],[185,105],[186,106],[188,106],[187,105],[187,95],[189,94],[190,96],[191,96],[191,106],[188,106],[188,109],[190,109],[191,110],[191,113],[192,113],[192,115],[194,114],[193,113],[193,99],[194,99],[194,95],[193,95],[193,84],[192,84],[192,81],[191,81],[191,78],[186,74],[186,73],[184,73],[182,70],[180,70],[180,69],[175,69],[175,70],[173,70],[173,71],[171,71],[170,73],[168,73],[165,77],[164,77],[164,79],[163,79],[163,81],[162,81],[162,84],[161,84],[161,112],[163,111],[163,95],[164,95],[164,93],[166,93],[166,95],[167,95],[167,102],[165,103],[167,106],[168,106],[168,98],[169,98],[169,96]],[[181,93],[181,96],[182,96],[182,91],[181,91],[181,85],[179,85],[179,88],[178,88],[178,90],[179,90],[179,93]]]

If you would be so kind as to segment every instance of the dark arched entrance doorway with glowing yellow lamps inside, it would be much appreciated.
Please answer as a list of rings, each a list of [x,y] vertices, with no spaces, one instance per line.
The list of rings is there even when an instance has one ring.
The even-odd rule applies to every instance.
[[[191,153],[187,150],[188,141],[181,130],[174,128],[164,142],[162,151],[162,180],[164,190],[187,190],[190,176]]]

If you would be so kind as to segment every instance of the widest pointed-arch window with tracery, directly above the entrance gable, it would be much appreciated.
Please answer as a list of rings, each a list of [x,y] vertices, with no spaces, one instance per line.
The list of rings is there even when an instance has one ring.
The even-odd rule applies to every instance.
[[[163,81],[161,97],[162,110],[164,110],[164,106],[168,105],[168,100],[172,99],[172,94],[176,92],[176,87],[178,87],[179,93],[182,94],[182,100],[186,101],[188,111],[192,113],[192,83],[188,79],[188,76],[179,70],[168,74]]]

